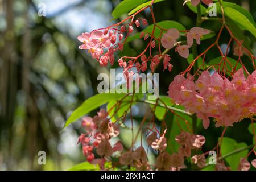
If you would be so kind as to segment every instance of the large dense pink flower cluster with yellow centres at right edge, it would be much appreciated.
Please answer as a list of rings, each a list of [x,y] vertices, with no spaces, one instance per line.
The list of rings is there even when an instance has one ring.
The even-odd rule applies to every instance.
[[[240,68],[231,81],[217,72],[210,75],[204,71],[195,82],[191,75],[177,75],[168,93],[177,104],[203,119],[205,129],[209,117],[215,118],[216,127],[232,126],[256,113],[256,71],[246,78]]]

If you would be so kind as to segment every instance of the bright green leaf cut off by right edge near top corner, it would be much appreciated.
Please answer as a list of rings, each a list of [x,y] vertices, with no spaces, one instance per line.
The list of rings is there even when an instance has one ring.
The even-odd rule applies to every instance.
[[[250,31],[251,34],[253,34],[256,38],[256,28],[254,24],[246,18],[245,15],[231,7],[226,7],[224,11],[225,14],[229,16],[230,19],[232,19],[234,22],[237,22],[238,24],[241,24],[243,27],[246,28],[246,30]]]

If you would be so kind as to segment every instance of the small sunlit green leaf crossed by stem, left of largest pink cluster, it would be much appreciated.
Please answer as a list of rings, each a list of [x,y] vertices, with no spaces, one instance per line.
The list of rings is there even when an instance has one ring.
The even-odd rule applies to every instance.
[[[168,96],[159,96],[159,98],[163,102],[158,101],[158,104],[163,104],[164,103],[166,106],[173,106],[174,105],[174,101]],[[155,105],[150,104],[150,107],[154,108]],[[156,116],[156,118],[158,118],[159,121],[163,120],[165,113],[166,113],[166,108],[161,107],[161,106],[156,106],[155,107],[155,116]]]

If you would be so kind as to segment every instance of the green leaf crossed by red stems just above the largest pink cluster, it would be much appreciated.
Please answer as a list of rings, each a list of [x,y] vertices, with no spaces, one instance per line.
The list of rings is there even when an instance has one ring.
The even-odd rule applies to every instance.
[[[226,59],[229,60],[229,62],[226,60],[226,67],[224,65],[224,61],[222,61],[221,65],[220,65],[220,71],[222,71],[222,68],[224,67],[224,72],[226,72],[227,70],[229,72],[226,72],[227,75],[230,75],[230,73],[233,72],[233,68],[235,67],[235,65],[237,64],[237,61],[232,59],[231,57],[226,57]],[[209,61],[208,65],[215,65],[220,63],[220,61],[222,60],[222,57],[216,57],[212,60]],[[230,65],[230,64],[231,65]],[[242,65],[240,63],[237,64],[236,70],[240,69],[242,67]],[[214,66],[215,69],[218,69],[218,65]]]

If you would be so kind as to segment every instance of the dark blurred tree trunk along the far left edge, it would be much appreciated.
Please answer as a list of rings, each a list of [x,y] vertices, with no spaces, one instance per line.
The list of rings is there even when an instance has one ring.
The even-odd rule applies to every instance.
[[[12,126],[13,117],[16,105],[17,93],[17,76],[18,76],[18,60],[14,48],[14,14],[13,14],[13,0],[3,1],[3,6],[6,14],[7,28],[4,33],[5,47],[3,48],[3,65],[1,71],[1,137],[4,135],[9,142],[8,155],[11,158],[12,146]],[[2,143],[1,143],[2,145]],[[12,160],[7,161],[7,168],[11,168]]]

